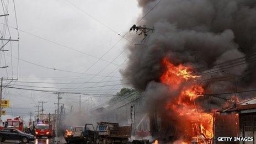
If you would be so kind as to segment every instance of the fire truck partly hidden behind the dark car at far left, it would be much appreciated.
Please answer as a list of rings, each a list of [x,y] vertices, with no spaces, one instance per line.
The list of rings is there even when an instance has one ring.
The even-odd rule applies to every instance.
[[[6,122],[4,122],[4,127],[13,127],[14,129],[18,129],[20,131],[23,131],[24,123],[22,119],[19,117],[16,117],[14,119],[7,119]]]

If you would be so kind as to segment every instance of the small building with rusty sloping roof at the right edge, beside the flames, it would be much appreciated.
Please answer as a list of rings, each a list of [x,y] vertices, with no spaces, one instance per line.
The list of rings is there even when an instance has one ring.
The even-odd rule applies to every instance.
[[[239,136],[254,137],[254,142],[244,143],[256,143],[256,98],[233,104],[219,110],[219,112],[222,115],[238,114]]]

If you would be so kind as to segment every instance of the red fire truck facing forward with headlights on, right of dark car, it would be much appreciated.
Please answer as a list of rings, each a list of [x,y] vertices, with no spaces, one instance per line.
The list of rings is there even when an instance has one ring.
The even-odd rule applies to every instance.
[[[51,138],[54,136],[54,131],[52,131],[52,126],[50,124],[39,123],[35,126],[35,136],[36,138],[41,138],[43,136]]]

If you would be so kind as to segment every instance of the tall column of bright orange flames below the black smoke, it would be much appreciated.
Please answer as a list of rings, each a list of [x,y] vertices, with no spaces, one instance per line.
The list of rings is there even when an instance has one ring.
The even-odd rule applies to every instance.
[[[169,87],[172,95],[165,104],[166,109],[173,111],[178,121],[185,122],[183,130],[180,130],[184,134],[181,135],[196,137],[199,143],[207,143],[214,136],[213,114],[205,113],[202,107],[195,103],[195,100],[204,94],[204,88],[195,81],[200,76],[193,75],[188,66],[175,66],[167,58],[163,58],[162,64],[166,71],[159,79]]]

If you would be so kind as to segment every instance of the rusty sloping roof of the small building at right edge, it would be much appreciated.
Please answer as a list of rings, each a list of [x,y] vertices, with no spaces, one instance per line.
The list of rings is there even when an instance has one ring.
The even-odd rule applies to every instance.
[[[232,106],[218,110],[220,113],[252,113],[256,112],[256,98],[235,103]]]

